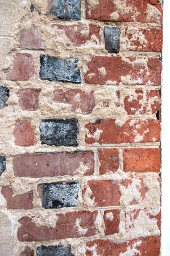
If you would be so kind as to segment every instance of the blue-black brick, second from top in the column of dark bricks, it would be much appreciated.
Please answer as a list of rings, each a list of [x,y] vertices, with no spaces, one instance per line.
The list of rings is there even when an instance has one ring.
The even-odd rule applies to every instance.
[[[81,83],[78,58],[59,59],[54,56],[40,56],[40,78],[49,81]]]

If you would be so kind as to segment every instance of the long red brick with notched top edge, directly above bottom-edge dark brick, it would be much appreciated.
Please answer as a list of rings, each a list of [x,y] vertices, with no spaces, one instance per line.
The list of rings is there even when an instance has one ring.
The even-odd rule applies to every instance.
[[[56,226],[40,226],[32,221],[31,217],[19,220],[19,241],[49,241],[64,238],[89,237],[98,234],[95,221],[98,212],[70,212],[57,214]]]

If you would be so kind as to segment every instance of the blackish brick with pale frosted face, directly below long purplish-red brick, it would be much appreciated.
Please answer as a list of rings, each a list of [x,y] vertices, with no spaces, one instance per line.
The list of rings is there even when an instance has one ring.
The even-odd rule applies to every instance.
[[[63,208],[78,205],[79,184],[72,182],[53,182],[38,185],[38,192],[42,199],[42,207]]]

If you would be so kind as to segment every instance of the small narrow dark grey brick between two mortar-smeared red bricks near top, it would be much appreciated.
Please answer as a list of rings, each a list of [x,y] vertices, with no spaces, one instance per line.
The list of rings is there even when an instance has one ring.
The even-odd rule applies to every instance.
[[[110,54],[118,54],[120,50],[120,29],[104,27],[105,48]]]

